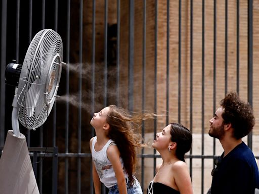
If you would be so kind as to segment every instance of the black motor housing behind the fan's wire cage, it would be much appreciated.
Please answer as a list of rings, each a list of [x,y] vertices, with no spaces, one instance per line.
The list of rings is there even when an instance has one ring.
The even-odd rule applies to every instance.
[[[5,82],[8,85],[18,87],[22,65],[17,63],[9,63],[5,71]]]

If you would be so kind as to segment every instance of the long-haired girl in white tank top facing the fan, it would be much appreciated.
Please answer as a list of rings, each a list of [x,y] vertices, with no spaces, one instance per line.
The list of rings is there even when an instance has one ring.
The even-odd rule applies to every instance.
[[[95,192],[100,193],[101,182],[109,193],[142,193],[140,183],[134,176],[136,147],[142,147],[141,136],[132,127],[148,114],[131,115],[115,105],[95,113],[91,125],[96,136],[90,140],[93,158]]]

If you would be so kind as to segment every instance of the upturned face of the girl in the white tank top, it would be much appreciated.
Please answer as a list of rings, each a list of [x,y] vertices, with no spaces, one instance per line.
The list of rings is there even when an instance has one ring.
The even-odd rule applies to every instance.
[[[95,129],[103,128],[103,126],[107,123],[106,118],[107,118],[107,114],[108,114],[109,110],[110,110],[109,107],[105,107],[100,112],[95,113],[93,118],[90,121],[90,124]]]

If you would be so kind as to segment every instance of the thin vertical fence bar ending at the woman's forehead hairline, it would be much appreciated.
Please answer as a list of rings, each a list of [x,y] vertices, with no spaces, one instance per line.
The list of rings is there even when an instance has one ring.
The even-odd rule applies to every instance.
[[[169,57],[170,57],[170,0],[167,0],[167,12],[166,12],[166,125],[169,120]]]

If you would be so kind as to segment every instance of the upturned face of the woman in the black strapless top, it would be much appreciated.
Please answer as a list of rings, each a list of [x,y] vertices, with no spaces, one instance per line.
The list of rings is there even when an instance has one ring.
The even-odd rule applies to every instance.
[[[163,130],[159,133],[156,133],[156,138],[152,143],[152,147],[156,150],[167,149],[169,146],[169,142],[171,141],[170,134],[171,125],[167,125]]]

